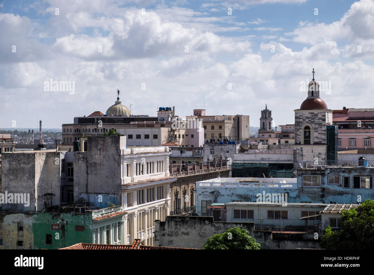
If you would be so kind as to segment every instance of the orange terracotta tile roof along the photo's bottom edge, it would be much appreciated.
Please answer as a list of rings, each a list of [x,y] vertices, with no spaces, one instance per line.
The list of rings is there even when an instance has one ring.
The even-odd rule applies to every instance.
[[[59,248],[59,249],[196,249],[196,248],[182,248],[182,247],[165,247],[165,246],[150,246],[143,245],[141,239],[135,239],[132,244],[85,244],[80,242],[79,244],[74,244],[69,247]]]

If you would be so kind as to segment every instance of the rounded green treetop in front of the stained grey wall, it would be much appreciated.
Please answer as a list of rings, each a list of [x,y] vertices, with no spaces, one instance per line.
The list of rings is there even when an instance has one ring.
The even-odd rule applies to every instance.
[[[209,237],[203,249],[261,249],[245,228],[230,228],[221,234]]]

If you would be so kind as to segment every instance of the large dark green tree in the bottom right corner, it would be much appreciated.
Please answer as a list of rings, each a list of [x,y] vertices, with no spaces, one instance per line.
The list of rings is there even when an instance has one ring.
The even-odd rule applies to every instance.
[[[356,208],[341,213],[341,228],[328,226],[321,237],[324,249],[373,249],[374,201],[365,200]]]

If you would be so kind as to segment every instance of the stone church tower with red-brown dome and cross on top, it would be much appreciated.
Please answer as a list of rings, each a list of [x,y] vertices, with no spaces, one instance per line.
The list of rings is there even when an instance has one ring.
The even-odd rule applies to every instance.
[[[319,84],[314,80],[314,68],[312,73],[313,80],[308,85],[308,96],[300,109],[294,110],[294,171],[298,169],[299,161],[325,162],[335,159],[337,153],[337,126],[329,126],[332,125],[332,110],[329,110],[325,101],[319,97]],[[329,127],[331,129],[328,129]],[[334,137],[331,137],[330,132],[334,132]],[[334,152],[328,152],[328,145],[332,145]]]

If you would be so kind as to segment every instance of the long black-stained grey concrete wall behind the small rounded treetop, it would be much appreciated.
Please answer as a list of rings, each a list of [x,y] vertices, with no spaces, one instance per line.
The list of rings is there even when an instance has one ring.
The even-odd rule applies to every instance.
[[[254,230],[254,223],[213,221],[213,217],[168,216],[156,220],[155,246],[203,248],[214,234],[239,227],[249,231],[263,249],[320,248],[314,234],[272,233]]]

